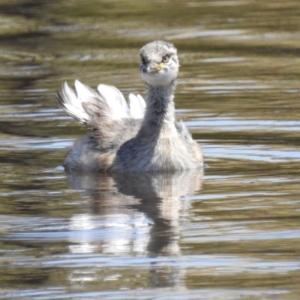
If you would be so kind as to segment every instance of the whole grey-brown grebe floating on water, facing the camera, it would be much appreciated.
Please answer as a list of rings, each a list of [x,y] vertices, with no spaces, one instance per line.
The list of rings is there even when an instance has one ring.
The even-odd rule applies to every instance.
[[[115,87],[99,85],[96,93],[79,81],[76,94],[67,83],[58,91],[59,105],[90,129],[68,153],[66,169],[171,172],[203,166],[200,146],[186,126],[175,121],[176,48],[154,41],[140,56],[146,101],[130,94],[128,105]]]

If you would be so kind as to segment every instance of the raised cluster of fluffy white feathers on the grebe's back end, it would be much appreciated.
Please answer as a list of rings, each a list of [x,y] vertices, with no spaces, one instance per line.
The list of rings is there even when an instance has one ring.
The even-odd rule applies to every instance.
[[[129,95],[129,106],[123,94],[115,87],[100,84],[98,86],[99,94],[89,86],[75,81],[76,93],[65,82],[62,88],[58,91],[59,105],[72,117],[82,123],[87,123],[91,120],[91,115],[83,107],[83,103],[91,103],[94,101],[102,101],[107,106],[109,117],[113,120],[123,118],[142,119],[145,113],[145,100],[140,95]]]

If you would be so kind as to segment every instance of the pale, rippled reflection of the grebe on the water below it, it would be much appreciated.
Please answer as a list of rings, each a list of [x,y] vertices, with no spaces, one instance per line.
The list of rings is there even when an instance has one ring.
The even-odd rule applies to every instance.
[[[181,220],[188,218],[189,197],[199,192],[203,171],[103,174],[68,172],[71,188],[90,201],[91,213],[73,216],[70,229],[82,230],[72,253],[171,257],[181,255]],[[86,229],[88,229],[86,231]],[[97,229],[90,235],[90,229]],[[100,230],[100,234],[99,234]],[[85,232],[87,234],[85,234]],[[78,237],[77,237],[78,238]],[[184,270],[151,262],[152,286],[178,286]]]

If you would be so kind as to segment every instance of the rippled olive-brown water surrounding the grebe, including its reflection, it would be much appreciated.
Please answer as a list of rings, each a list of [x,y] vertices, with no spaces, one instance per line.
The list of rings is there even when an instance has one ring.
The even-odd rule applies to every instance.
[[[1,299],[299,299],[299,32],[298,0],[0,0]],[[143,94],[154,39],[205,174],[65,174],[55,91]]]

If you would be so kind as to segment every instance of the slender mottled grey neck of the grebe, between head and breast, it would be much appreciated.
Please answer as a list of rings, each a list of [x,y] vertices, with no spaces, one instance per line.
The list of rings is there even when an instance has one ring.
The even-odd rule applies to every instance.
[[[175,106],[174,91],[176,82],[167,86],[152,86],[146,83],[146,112],[141,127],[141,134],[157,133],[164,126],[174,126]]]

